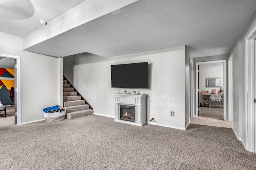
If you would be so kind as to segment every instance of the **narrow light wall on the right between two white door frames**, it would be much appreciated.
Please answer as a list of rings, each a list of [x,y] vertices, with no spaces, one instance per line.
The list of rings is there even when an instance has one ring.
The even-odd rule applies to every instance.
[[[245,145],[246,143],[246,57],[245,39],[256,25],[256,15],[248,24],[245,31],[237,38],[230,50],[233,54],[233,129],[237,137]]]

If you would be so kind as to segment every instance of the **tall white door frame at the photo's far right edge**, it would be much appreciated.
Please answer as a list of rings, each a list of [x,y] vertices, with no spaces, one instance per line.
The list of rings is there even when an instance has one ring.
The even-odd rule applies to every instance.
[[[245,38],[245,149],[250,152],[256,152],[256,119],[254,117],[254,59],[255,55],[255,39],[256,39],[256,26],[250,31]],[[250,92],[250,93],[248,93]]]

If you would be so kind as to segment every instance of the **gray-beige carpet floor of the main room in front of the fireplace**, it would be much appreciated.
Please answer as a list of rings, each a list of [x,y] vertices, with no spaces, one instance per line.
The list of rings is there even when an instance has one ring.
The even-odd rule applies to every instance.
[[[256,169],[256,154],[226,127],[138,127],[99,115],[20,126],[12,121],[0,119],[2,170]]]

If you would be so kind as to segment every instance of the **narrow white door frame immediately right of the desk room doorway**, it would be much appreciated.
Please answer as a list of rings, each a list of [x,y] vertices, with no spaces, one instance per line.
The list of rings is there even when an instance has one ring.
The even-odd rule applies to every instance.
[[[233,122],[233,54],[228,58],[228,121]]]

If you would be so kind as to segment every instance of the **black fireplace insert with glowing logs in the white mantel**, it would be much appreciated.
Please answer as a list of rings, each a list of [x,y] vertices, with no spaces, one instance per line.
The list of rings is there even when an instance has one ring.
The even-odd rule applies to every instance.
[[[135,106],[120,105],[120,117],[121,120],[135,122]]]

